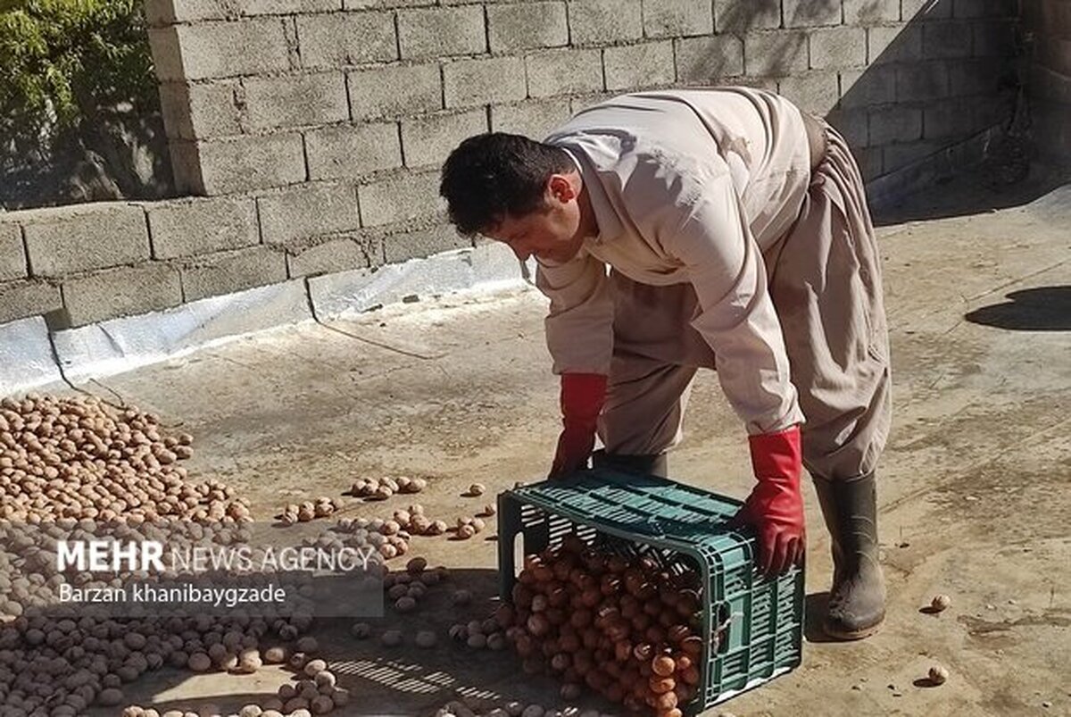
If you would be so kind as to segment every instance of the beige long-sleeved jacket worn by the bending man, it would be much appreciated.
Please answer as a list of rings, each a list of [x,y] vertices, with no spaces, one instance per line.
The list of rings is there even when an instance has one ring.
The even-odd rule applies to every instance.
[[[800,110],[750,88],[640,92],[580,111],[545,141],[573,156],[599,225],[576,257],[538,267],[555,373],[609,372],[609,265],[643,284],[694,286],[692,326],[749,433],[801,422],[761,256],[808,190]]]

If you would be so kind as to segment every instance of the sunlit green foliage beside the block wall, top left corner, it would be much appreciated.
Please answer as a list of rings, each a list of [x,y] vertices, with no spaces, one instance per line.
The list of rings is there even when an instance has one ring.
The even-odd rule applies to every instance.
[[[157,102],[140,0],[0,0],[0,152]]]

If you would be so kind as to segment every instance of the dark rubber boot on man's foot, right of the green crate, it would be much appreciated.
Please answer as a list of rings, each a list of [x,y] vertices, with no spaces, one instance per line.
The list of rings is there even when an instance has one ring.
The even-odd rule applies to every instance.
[[[876,486],[873,473],[855,480],[814,478],[833,543],[833,585],[823,628],[839,640],[861,640],[885,622]]]

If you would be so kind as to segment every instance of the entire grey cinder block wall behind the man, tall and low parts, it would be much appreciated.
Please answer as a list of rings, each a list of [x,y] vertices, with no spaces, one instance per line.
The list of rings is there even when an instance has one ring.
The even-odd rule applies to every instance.
[[[50,314],[77,326],[468,245],[437,192],[458,141],[539,137],[630,90],[781,91],[840,128],[873,179],[1002,119],[1017,24],[1015,0],[147,0],[146,11],[177,181],[199,196],[0,214],[0,323]]]

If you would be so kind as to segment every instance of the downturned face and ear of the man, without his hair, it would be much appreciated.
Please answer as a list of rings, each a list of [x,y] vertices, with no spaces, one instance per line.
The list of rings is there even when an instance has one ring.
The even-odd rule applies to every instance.
[[[577,184],[575,178],[552,176],[542,208],[524,216],[507,216],[487,236],[508,244],[522,262],[533,255],[568,262],[584,243]]]

